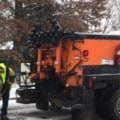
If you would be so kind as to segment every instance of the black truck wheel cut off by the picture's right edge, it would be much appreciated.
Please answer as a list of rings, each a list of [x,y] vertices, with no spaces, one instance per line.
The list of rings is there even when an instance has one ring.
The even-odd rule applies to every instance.
[[[110,99],[109,115],[112,120],[120,120],[120,89],[117,89]]]

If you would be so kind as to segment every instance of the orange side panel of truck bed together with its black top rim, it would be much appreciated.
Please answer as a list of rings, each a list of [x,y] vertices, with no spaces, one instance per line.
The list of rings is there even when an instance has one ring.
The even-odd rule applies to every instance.
[[[88,59],[83,61],[83,65],[104,65],[114,64],[116,49],[120,45],[120,36],[104,34],[77,34],[82,38],[82,45],[76,46],[82,51],[87,50]]]

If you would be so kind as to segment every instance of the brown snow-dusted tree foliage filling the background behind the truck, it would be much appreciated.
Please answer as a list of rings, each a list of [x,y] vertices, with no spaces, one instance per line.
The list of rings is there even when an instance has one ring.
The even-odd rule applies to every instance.
[[[21,61],[24,42],[32,25],[49,28],[47,19],[57,18],[65,31],[100,32],[101,20],[108,16],[107,0],[8,0],[0,2],[0,43],[14,41],[14,49],[7,52]],[[4,13],[4,14],[3,14]],[[10,56],[9,55],[9,56]]]

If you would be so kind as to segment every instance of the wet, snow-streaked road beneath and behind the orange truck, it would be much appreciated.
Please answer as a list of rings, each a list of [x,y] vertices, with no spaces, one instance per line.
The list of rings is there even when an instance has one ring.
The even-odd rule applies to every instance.
[[[16,97],[16,88],[17,86],[13,85],[10,98]],[[1,105],[0,101],[0,108]],[[11,120],[71,120],[71,114],[68,111],[41,111],[36,109],[35,104],[19,104],[15,99],[9,100],[8,116]]]

